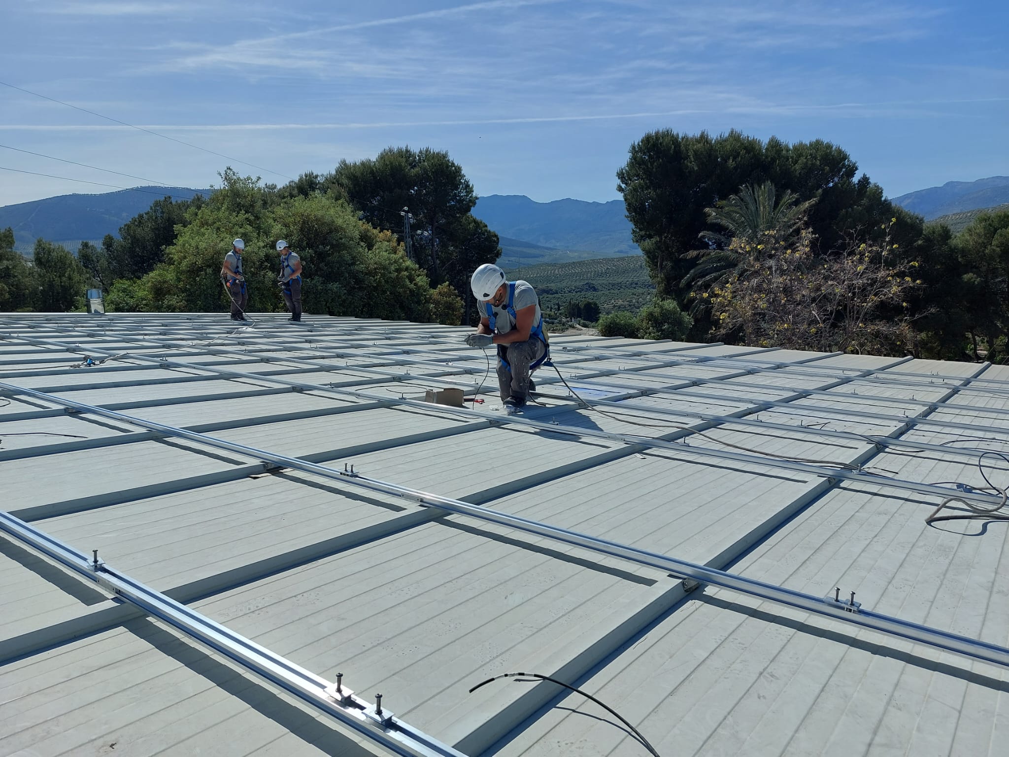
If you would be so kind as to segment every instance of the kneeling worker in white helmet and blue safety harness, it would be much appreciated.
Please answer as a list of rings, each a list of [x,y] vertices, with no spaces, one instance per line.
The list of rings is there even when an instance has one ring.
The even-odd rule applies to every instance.
[[[470,347],[497,345],[497,384],[501,400],[521,408],[529,399],[531,371],[549,357],[547,332],[536,290],[528,282],[509,282],[504,272],[485,262],[470,280],[479,302],[480,325],[466,337]]]

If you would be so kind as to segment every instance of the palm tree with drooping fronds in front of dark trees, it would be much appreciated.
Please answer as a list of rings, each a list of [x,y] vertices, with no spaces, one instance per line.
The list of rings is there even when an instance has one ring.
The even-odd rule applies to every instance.
[[[684,257],[700,258],[683,283],[693,285],[694,289],[707,289],[727,279],[743,258],[739,249],[730,248],[733,239],[756,245],[768,235],[777,239],[793,236],[816,202],[814,199],[796,204],[798,199],[798,195],[786,190],[775,204],[774,185],[764,182],[756,190],[746,184],[739,194],[719,200],[713,208],[706,208],[704,213],[708,222],[721,226],[725,232],[700,232],[707,246],[683,254]]]

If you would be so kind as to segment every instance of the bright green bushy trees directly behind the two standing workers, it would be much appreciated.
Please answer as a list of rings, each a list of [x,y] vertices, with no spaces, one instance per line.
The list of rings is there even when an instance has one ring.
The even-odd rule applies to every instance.
[[[110,310],[225,310],[229,303],[221,266],[231,240],[240,236],[250,308],[257,312],[284,310],[274,246],[283,237],[302,258],[306,313],[414,321],[431,317],[432,292],[424,272],[406,258],[395,235],[362,223],[333,193],[281,199],[250,177],[226,171],[222,180],[223,186],[191,208],[187,223],[177,227],[164,262],[140,280],[112,286]]]

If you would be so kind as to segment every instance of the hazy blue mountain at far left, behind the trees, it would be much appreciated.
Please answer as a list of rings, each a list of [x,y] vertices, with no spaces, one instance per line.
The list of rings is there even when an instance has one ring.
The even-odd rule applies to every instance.
[[[102,195],[60,195],[0,208],[0,229],[14,229],[17,249],[30,248],[36,237],[67,243],[74,249],[82,239],[114,234],[137,213],[161,197],[189,200],[210,190],[185,187],[137,187]]]

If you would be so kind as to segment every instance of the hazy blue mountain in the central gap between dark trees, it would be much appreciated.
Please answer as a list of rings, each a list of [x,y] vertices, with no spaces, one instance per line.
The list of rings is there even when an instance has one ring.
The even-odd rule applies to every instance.
[[[534,245],[600,254],[641,253],[631,239],[623,200],[538,203],[525,195],[488,195],[477,201],[473,215],[500,236]]]

